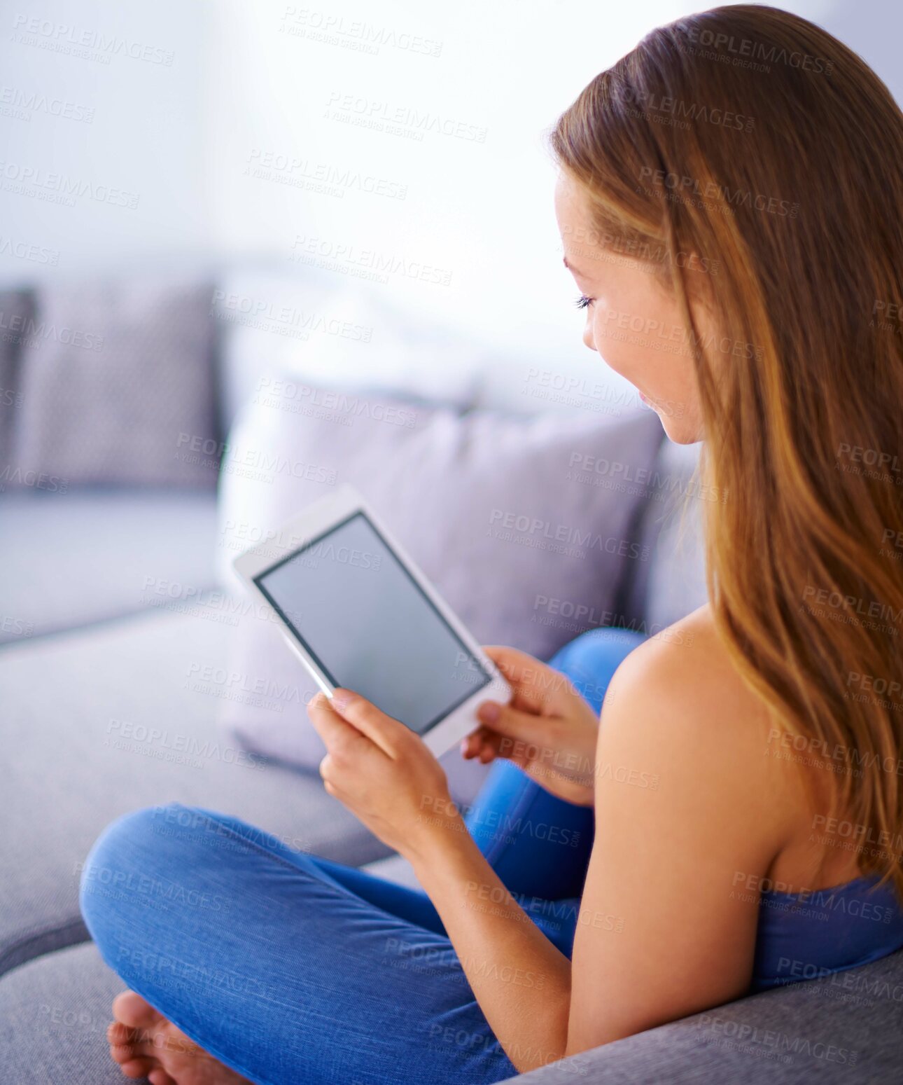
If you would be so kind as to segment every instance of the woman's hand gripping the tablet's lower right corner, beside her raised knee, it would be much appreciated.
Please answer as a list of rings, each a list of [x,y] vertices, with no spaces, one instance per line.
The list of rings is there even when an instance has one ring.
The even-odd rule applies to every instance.
[[[461,752],[485,764],[505,757],[553,795],[593,805],[598,718],[572,684],[545,663],[514,648],[488,647],[514,691],[511,704],[483,701],[481,726]]]

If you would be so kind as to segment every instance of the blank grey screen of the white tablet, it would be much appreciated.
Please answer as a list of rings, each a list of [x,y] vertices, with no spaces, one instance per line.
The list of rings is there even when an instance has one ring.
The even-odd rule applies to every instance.
[[[491,681],[363,512],[255,583],[334,686],[418,735]]]

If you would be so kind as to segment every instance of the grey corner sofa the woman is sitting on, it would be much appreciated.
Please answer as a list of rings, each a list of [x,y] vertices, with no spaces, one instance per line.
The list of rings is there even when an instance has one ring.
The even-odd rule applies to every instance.
[[[242,405],[263,366],[261,352],[268,365],[273,355],[295,365],[299,346],[279,328],[224,319],[210,297],[229,309],[230,297],[249,297],[254,290],[273,296],[287,291],[348,308],[347,298],[335,299],[331,283],[253,290],[246,282],[223,282],[182,284],[176,294],[167,284],[156,308],[141,302],[143,286],[111,292],[78,284],[47,296],[18,291],[3,302],[8,314],[33,314],[7,336],[0,360],[0,383],[10,390],[0,396],[9,408],[0,413],[0,1081],[9,1085],[122,1080],[105,1042],[109,1004],[122,984],[101,960],[77,905],[85,856],[122,813],[171,801],[219,808],[292,846],[414,884],[407,864],[325,794],[311,768],[315,750],[292,745],[304,727],[298,714],[282,718],[283,730],[268,745],[272,729],[255,730],[247,713],[236,720],[242,699],[228,680],[215,677],[235,673],[229,668],[240,636],[222,603],[236,590],[222,553],[223,502],[234,508],[243,500],[234,477],[220,474],[218,482],[225,435],[247,431]],[[194,309],[192,297],[201,299]],[[356,312],[366,305],[378,310],[359,327],[385,332],[384,353],[371,353],[362,367],[349,360],[340,335],[306,343],[306,379],[327,374],[346,388],[372,388],[378,370],[384,398],[390,387],[418,407],[433,409],[441,400],[444,426],[475,410],[525,412],[524,396],[515,403],[498,394],[504,384],[499,374],[511,359],[456,342],[451,333],[430,340],[429,329],[405,328],[403,317],[387,315],[370,295],[354,304]],[[111,308],[119,314],[116,320]],[[250,311],[233,308],[233,316]],[[81,345],[72,336],[63,342],[59,331],[36,331],[51,322],[48,317],[41,324],[41,312],[56,314],[56,329],[77,326]],[[85,345],[92,334],[89,342],[103,339],[112,352],[104,360]],[[434,368],[424,372],[420,365],[427,342],[434,352],[466,353],[470,365],[439,381]],[[78,365],[75,350],[81,352]],[[129,376],[124,368],[131,362],[124,359],[136,358]],[[490,368],[491,382],[482,380]],[[589,396],[585,407],[595,393],[581,394]],[[537,396],[530,409],[542,413],[547,406],[547,397]],[[560,418],[585,425],[580,406]],[[69,411],[81,417],[78,432]],[[117,416],[115,424],[105,412]],[[308,423],[299,414],[292,425],[304,430]],[[658,430],[649,437],[658,425],[649,417],[624,424],[650,442],[652,470],[669,494],[692,494],[698,449],[670,445]],[[197,456],[179,458],[186,444],[197,445]],[[617,583],[606,611],[647,631],[705,600],[704,502],[660,496],[641,494],[628,512],[621,510],[621,534],[648,560],[625,561],[611,574]],[[422,541],[427,551],[429,545]],[[428,559],[424,553],[422,563],[440,576],[440,565],[430,570]],[[441,562],[450,560],[447,548]],[[492,585],[474,582],[468,588],[465,578],[454,587],[456,608],[467,609],[468,590],[485,593]],[[473,618],[478,622],[478,610]],[[584,626],[594,624],[599,618],[591,615]],[[560,625],[557,635],[570,634]],[[479,766],[462,768],[449,760],[449,773],[456,797],[466,801],[479,786]],[[900,1081],[901,1025],[903,957],[894,954],[866,968],[743,998],[517,1080]],[[428,1068],[424,1080],[434,1080]]]

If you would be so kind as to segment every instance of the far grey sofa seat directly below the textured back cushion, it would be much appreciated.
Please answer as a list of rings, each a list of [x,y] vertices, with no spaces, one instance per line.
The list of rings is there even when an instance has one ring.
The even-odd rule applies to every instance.
[[[0,643],[132,614],[190,610],[216,583],[212,493],[4,494]]]

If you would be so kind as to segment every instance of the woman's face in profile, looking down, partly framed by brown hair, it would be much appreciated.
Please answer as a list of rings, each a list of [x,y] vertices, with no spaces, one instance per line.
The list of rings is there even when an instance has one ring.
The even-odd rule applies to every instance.
[[[555,215],[570,270],[584,299],[583,342],[637,390],[679,445],[702,437],[693,340],[676,299],[654,268],[604,248],[577,184],[562,174]],[[705,336],[705,319],[694,309]]]

